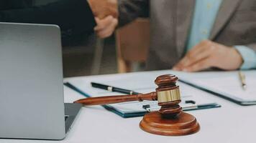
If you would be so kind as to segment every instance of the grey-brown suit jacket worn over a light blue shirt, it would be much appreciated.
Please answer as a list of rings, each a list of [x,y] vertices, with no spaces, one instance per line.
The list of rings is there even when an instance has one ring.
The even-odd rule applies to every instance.
[[[150,17],[147,69],[170,69],[184,56],[195,0],[119,0],[119,23]],[[256,0],[223,0],[210,39],[256,52]]]

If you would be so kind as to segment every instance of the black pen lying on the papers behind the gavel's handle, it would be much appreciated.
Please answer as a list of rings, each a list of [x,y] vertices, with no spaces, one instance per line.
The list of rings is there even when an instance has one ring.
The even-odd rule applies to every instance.
[[[139,92],[134,92],[132,90],[121,89],[121,88],[118,88],[118,87],[111,87],[109,85],[98,84],[98,83],[95,83],[95,82],[91,82],[91,86],[99,88],[99,89],[105,89],[105,90],[108,90],[109,92],[120,92],[120,93],[123,93],[123,94],[130,94],[130,95],[140,94]]]

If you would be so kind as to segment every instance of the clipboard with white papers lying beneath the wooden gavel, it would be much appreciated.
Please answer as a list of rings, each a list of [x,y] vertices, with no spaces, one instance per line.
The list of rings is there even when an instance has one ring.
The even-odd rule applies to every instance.
[[[155,92],[157,86],[154,81],[157,76],[170,73],[172,72],[169,70],[145,71],[117,75],[102,75],[70,79],[68,80],[68,83],[76,87],[78,91],[88,94],[88,97],[122,95],[117,92],[109,92],[104,89],[91,87],[91,82],[107,84],[113,87],[119,87],[123,89],[130,89],[134,92],[148,93]],[[180,86],[180,93],[182,99],[180,106],[183,107],[184,111],[192,109],[209,109],[220,107],[220,105],[216,102],[207,99],[206,94],[209,93],[191,87],[182,82],[178,82],[177,84]],[[109,104],[106,106],[106,109],[109,109],[122,117],[137,117],[144,115],[146,112],[159,110],[160,107],[157,105],[157,101],[143,101]]]

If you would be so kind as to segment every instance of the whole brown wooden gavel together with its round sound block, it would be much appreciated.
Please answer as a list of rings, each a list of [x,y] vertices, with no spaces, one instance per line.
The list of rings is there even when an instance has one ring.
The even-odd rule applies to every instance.
[[[113,104],[120,102],[151,100],[158,101],[161,107],[158,112],[145,114],[140,128],[145,132],[165,136],[181,136],[198,132],[200,126],[193,115],[182,112],[179,103],[180,89],[176,82],[178,77],[172,74],[162,75],[155,79],[156,92],[137,95],[121,95],[110,97],[91,97],[80,99],[76,103],[84,105]]]

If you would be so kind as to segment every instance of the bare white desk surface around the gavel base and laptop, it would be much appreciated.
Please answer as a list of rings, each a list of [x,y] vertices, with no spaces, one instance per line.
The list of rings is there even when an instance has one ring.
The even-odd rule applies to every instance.
[[[0,142],[255,142],[256,106],[242,107],[211,94],[206,94],[206,96],[214,99],[222,107],[189,112],[198,119],[201,130],[188,136],[164,137],[149,134],[143,132],[139,127],[142,117],[123,119],[102,107],[96,106],[83,107],[73,129],[62,141],[0,139]],[[65,87],[65,102],[73,102],[80,98],[83,96]]]

